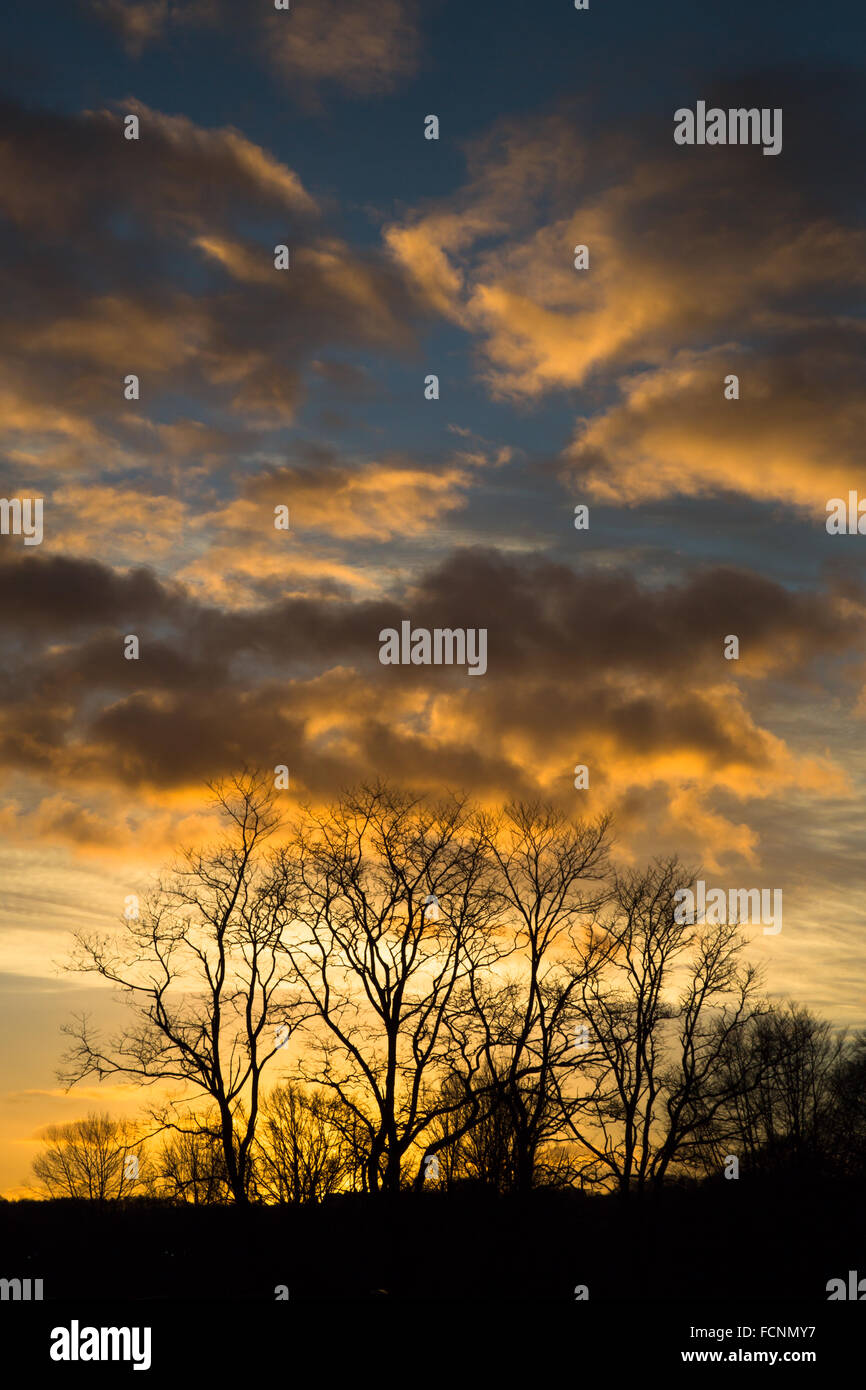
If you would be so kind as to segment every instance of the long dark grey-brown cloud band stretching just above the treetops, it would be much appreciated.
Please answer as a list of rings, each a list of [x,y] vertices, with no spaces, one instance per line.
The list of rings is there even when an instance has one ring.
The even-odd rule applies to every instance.
[[[96,562],[28,556],[1,580],[15,600],[3,626],[31,634],[7,682],[3,756],[56,758],[97,781],[185,784],[286,762],[289,748],[317,788],[375,767],[417,777],[434,762],[457,780],[463,763],[466,780],[478,719],[485,749],[470,762],[481,783],[532,780],[507,752],[516,738],[601,738],[635,758],[695,749],[717,767],[756,767],[776,753],[746,713],[748,677],[802,681],[822,659],[863,659],[851,595],[792,592],[731,569],[652,589],[626,573],[463,550],[386,599],[243,610]],[[403,619],[487,627],[488,674],[384,667],[378,634]],[[124,659],[126,632],[140,639],[138,662]],[[723,657],[731,632],[740,663]],[[466,730],[460,713],[418,724],[417,694],[445,699],[443,710],[453,702]]]

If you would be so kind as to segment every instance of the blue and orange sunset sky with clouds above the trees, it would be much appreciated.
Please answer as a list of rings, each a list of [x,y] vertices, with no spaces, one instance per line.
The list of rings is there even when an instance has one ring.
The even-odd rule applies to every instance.
[[[826,525],[866,498],[862,8],[6,29],[0,496],[43,539],[0,537],[0,1190],[44,1125],[135,1111],[56,1080],[120,1008],[70,930],[242,763],[289,810],[374,777],[610,809],[626,863],[781,890],[769,991],[866,1026],[866,537]],[[699,100],[781,110],[781,152],[678,146]],[[485,628],[485,674],[382,664],[403,620]]]

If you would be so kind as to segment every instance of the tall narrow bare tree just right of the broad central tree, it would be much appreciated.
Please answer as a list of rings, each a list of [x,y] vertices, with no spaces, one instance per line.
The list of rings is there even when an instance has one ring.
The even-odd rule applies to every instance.
[[[463,1026],[455,1070],[467,1102],[477,1101],[481,1126],[466,1151],[482,1137],[495,1136],[499,1147],[507,1134],[507,1182],[521,1191],[537,1179],[542,1148],[570,1138],[563,1112],[575,1104],[567,1077],[581,1047],[581,991],[613,949],[598,929],[609,895],[609,827],[607,816],[573,823],[538,802],[481,820],[499,906],[499,959],[495,973],[489,959],[471,959],[463,1015],[452,1022],[455,1036]],[[500,1180],[505,1162],[498,1152]],[[549,1152],[545,1166],[559,1169]]]

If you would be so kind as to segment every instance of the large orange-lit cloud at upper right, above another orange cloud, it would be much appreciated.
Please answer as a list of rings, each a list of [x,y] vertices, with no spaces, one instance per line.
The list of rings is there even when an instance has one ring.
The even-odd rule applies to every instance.
[[[606,170],[601,188],[589,168]],[[710,168],[609,136],[589,160],[550,118],[503,124],[457,195],[385,236],[431,307],[478,336],[489,388],[538,398],[612,366],[667,363],[710,334],[798,325],[792,295],[862,285],[866,234],[794,217],[796,199],[780,190],[767,211],[730,157]],[[588,270],[574,268],[578,245]]]

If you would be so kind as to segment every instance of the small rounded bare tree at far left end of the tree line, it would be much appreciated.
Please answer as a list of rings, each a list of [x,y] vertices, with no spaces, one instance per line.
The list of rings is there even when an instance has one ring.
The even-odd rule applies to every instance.
[[[50,1125],[43,1140],[33,1175],[47,1197],[117,1201],[140,1191],[147,1180],[142,1136],[131,1120],[92,1112],[83,1120]]]

